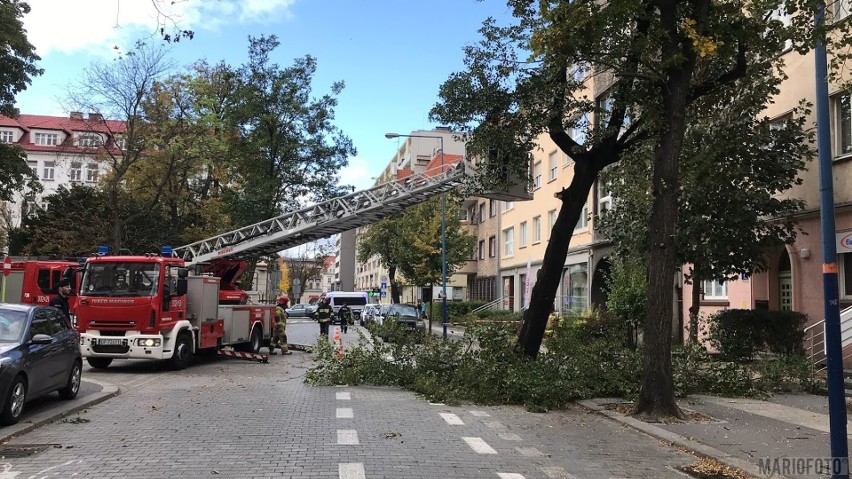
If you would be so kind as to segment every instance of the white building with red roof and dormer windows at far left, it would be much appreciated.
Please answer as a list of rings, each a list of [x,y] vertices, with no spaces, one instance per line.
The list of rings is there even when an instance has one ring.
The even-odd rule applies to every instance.
[[[84,116],[71,112],[68,117],[0,115],[0,141],[19,145],[26,152],[27,164],[36,173],[44,191],[38,195],[20,192],[4,208],[11,224],[19,226],[21,219],[35,208],[44,207],[43,198],[55,193],[60,186],[95,185],[106,165],[98,151],[120,150],[124,146],[124,122],[105,120],[97,113]]]

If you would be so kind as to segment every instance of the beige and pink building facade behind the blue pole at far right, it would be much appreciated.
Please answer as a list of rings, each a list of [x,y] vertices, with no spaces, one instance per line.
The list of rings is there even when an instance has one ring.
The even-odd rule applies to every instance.
[[[837,2],[842,6],[848,2]],[[835,12],[835,21],[849,16],[852,9]],[[788,19],[789,20],[789,19]],[[829,55],[831,52],[829,52]],[[769,118],[783,122],[801,100],[816,103],[816,74],[814,54],[788,49],[783,53],[787,79],[779,93],[764,112]],[[850,80],[846,73],[845,81]],[[814,149],[829,148],[834,181],[835,231],[828,238],[835,242],[838,253],[840,308],[852,306],[852,108],[850,91],[838,84],[829,85],[830,131],[829,145],[813,145]],[[816,128],[816,109],[808,122]],[[700,311],[711,314],[720,309],[795,310],[808,315],[808,324],[822,321],[824,298],[822,290],[822,234],[820,223],[819,168],[816,161],[800,173],[802,184],[785,194],[803,199],[804,211],[798,215],[802,232],[794,244],[767,251],[769,269],[763,273],[742,277],[736,281],[704,281]],[[692,285],[683,286],[683,314],[688,316]],[[817,328],[821,334],[822,328]],[[820,338],[821,340],[821,338]]]

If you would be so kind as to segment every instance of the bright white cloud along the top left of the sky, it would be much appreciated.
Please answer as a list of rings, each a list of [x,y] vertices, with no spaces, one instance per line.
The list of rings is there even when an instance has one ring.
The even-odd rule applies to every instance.
[[[30,0],[24,27],[36,52],[107,55],[127,49],[144,35],[176,24],[186,30],[215,30],[237,21],[269,23],[292,17],[296,0]],[[173,23],[174,22],[174,23]]]

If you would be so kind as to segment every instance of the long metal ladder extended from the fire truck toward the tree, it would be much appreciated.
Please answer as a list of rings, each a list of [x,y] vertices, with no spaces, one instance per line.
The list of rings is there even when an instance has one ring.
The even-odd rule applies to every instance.
[[[238,230],[174,248],[187,265],[218,258],[249,259],[375,223],[450,191],[469,173],[464,161],[284,213]]]

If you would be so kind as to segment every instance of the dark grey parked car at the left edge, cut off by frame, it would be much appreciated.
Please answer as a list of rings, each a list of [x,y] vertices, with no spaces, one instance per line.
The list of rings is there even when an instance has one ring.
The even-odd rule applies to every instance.
[[[0,365],[0,424],[15,424],[31,399],[77,397],[80,336],[56,308],[0,303]]]

